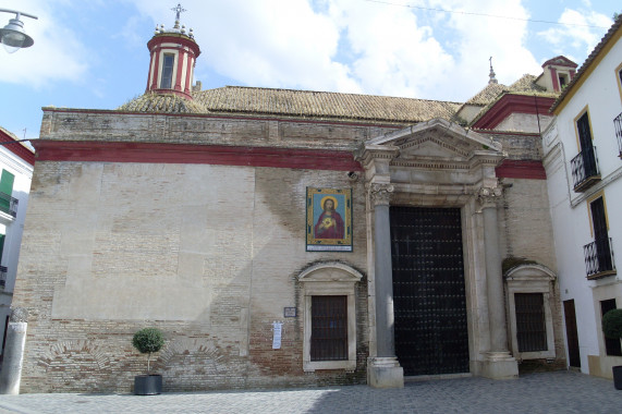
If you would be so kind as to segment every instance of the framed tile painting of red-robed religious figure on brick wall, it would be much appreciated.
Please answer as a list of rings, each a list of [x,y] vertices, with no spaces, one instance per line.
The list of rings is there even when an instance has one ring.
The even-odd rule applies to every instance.
[[[352,188],[307,187],[307,252],[352,252]]]

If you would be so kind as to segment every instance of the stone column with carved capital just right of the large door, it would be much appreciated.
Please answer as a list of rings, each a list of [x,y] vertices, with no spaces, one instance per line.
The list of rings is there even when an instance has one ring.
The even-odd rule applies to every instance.
[[[501,199],[500,187],[483,187],[477,195],[484,219],[484,248],[486,255],[486,289],[488,299],[488,322],[490,327],[490,351],[483,375],[505,379],[519,376],[516,360],[508,351],[508,324],[505,319],[505,295],[499,252],[499,224],[497,202]]]

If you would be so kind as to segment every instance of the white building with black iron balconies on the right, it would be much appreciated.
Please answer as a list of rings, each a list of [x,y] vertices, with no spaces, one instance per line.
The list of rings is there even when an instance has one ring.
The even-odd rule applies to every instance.
[[[622,364],[620,340],[601,330],[622,307],[621,37],[618,19],[553,104],[542,143],[568,362],[608,378]]]

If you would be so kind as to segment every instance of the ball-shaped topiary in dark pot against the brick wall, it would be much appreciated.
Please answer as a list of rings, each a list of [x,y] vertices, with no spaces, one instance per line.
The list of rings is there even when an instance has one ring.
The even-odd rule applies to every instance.
[[[132,344],[142,354],[147,354],[147,374],[134,377],[134,393],[136,395],[155,395],[162,392],[162,376],[151,374],[151,354],[164,345],[162,331],[157,328],[144,328],[134,333]]]

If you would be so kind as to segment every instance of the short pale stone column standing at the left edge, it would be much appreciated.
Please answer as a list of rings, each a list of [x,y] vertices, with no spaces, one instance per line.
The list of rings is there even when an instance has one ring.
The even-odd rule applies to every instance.
[[[28,314],[17,307],[11,313],[4,346],[4,361],[0,372],[0,394],[19,394],[22,380],[22,362],[26,344]]]

